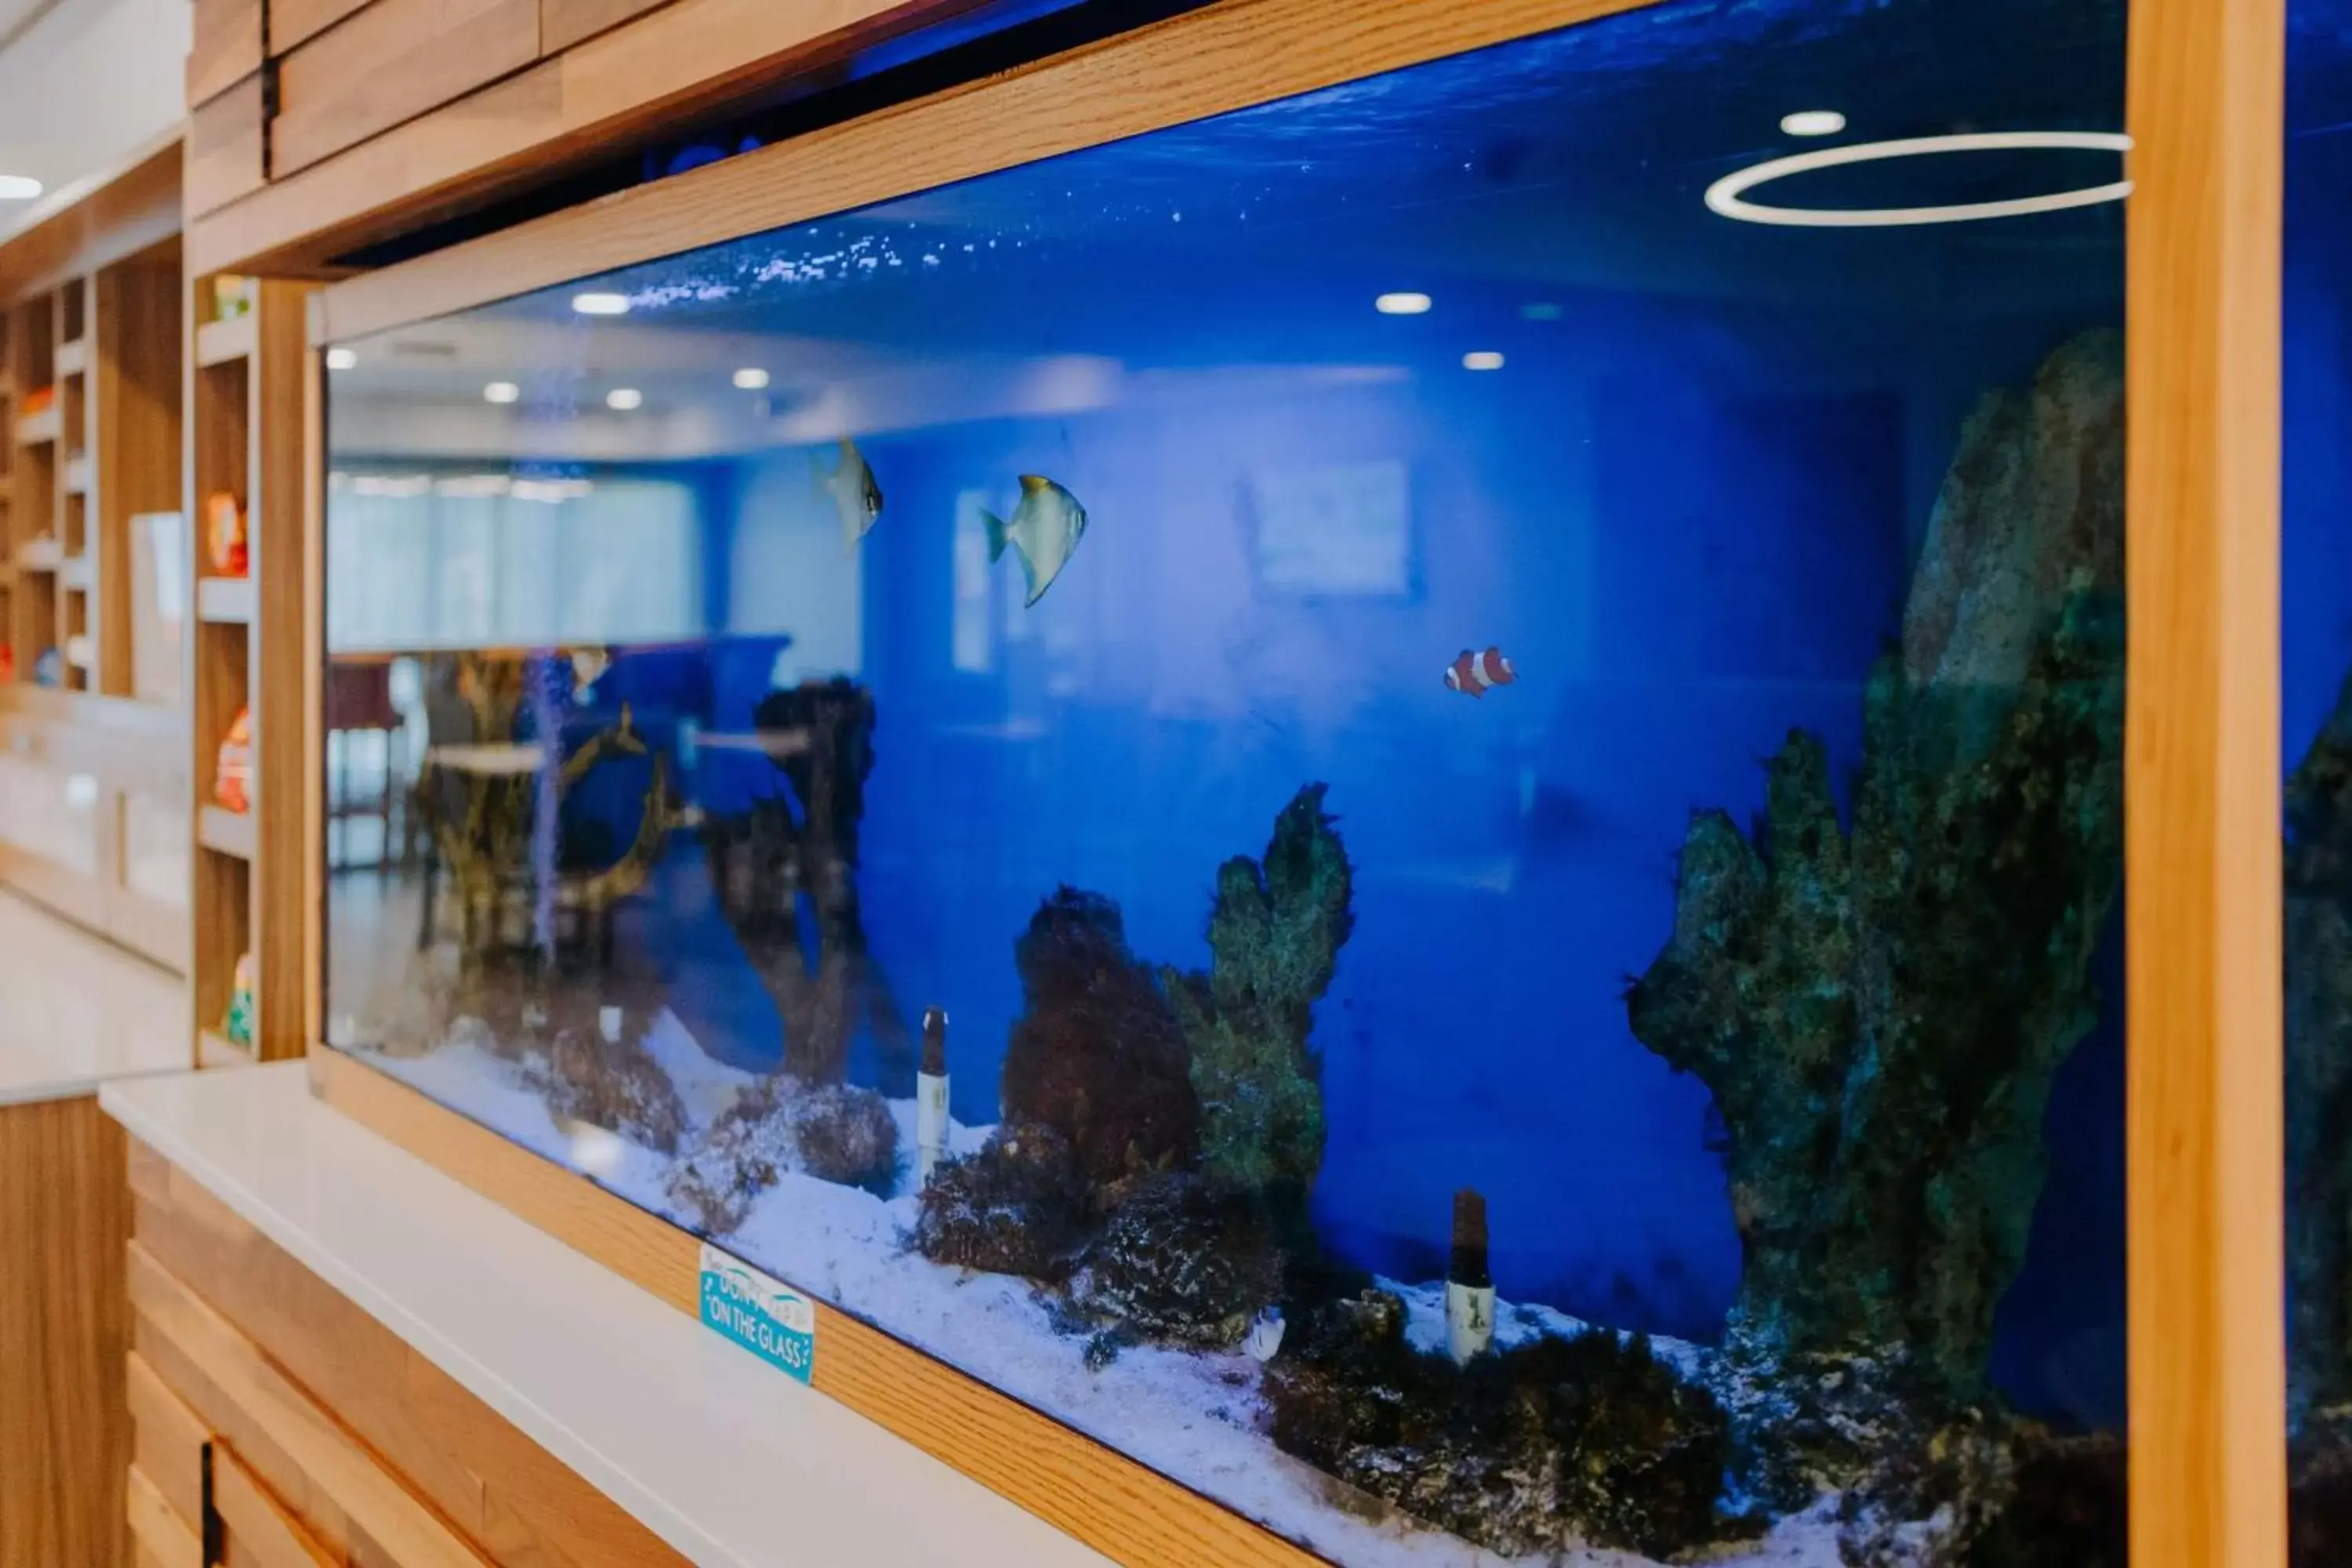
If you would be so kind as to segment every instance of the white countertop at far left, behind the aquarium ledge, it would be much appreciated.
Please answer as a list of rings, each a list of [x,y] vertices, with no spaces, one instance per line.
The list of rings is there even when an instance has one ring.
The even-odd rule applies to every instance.
[[[0,1105],[179,1072],[191,1051],[188,990],[176,976],[0,893]]]

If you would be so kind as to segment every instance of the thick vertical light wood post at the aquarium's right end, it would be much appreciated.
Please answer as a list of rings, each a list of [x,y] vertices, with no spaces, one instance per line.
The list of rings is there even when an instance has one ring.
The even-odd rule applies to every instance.
[[[2131,1563],[2286,1561],[2281,0],[2136,0]]]

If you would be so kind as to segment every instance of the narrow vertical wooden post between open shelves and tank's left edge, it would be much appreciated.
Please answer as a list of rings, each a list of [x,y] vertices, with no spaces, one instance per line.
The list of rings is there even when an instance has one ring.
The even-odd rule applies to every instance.
[[[308,820],[318,766],[318,708],[310,679],[322,651],[308,639],[310,541],[308,463],[315,355],[308,348],[310,289],[263,282],[252,360],[252,557],[256,583],[254,668],[254,964],[259,971],[254,1046],[261,1060],[299,1058],[308,1016],[315,905],[306,865],[322,839]]]

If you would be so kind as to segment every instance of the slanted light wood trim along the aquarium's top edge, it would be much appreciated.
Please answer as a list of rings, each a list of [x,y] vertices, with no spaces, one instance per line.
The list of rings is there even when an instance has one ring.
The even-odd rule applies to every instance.
[[[327,289],[322,341],[405,327],[1649,2],[1446,0],[1359,7],[1338,21],[1331,0],[1225,0],[1011,75],[350,277]],[[691,5],[656,12],[647,24]],[[588,47],[626,40],[635,26]]]

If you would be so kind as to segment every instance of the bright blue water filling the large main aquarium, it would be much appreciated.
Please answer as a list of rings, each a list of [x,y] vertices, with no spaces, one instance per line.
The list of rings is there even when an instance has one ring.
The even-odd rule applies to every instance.
[[[1710,1098],[1623,1006],[1670,933],[1686,818],[1757,811],[1797,726],[1856,766],[1962,421],[2122,322],[2117,207],[1820,233],[1705,212],[1717,176],[1799,150],[1783,113],[1825,106],[1842,141],[2114,129],[2122,7],[1668,5],[1096,148],[593,280],[635,301],[621,322],[576,317],[576,284],[393,334],[461,341],[456,369],[362,343],[332,461],[673,487],[682,630],[710,646],[637,639],[590,715],[630,701],[710,811],[774,771],[687,766],[680,731],[748,726],[779,656],[873,693],[866,933],[903,1009],[953,1013],[964,1121],[997,1117],[1011,943],[1042,896],[1105,893],[1141,957],[1207,966],[1218,863],[1327,783],[1357,919],[1315,1013],[1324,1241],[1432,1279],[1472,1185],[1505,1298],[1712,1340],[1740,1246]],[[2105,179],[2086,155],[1924,160],[1773,197]],[[1374,310],[1397,289],[1432,308]],[[1465,369],[1475,350],[1503,367]],[[750,362],[764,393],[729,386]],[[2296,374],[2343,397],[2340,369]],[[492,376],[522,388],[513,423],[480,402]],[[612,386],[644,407],[607,414]],[[842,433],[887,498],[854,557],[814,491]],[[1007,510],[1023,473],[1091,517],[1035,609],[1011,562],[971,559],[976,508]],[[2328,475],[2291,496],[2333,505],[2340,458]],[[426,597],[381,646],[445,646]],[[581,611],[560,642],[630,639]],[[1446,691],[1489,644],[1517,684]],[[2291,733],[2319,701],[2296,679]],[[626,842],[642,776],[597,788],[569,811]],[[619,964],[670,978],[715,1056],[781,1058],[684,839],[623,912]],[[2122,1415],[2103,971],[1997,1352],[2023,1406],[2079,1422]],[[889,1093],[906,1074],[870,1037],[851,1060]]]

